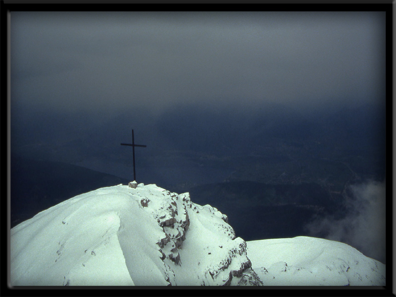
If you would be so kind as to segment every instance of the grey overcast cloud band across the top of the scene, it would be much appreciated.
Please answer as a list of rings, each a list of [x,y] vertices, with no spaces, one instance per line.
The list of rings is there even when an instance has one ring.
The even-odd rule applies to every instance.
[[[385,99],[385,12],[11,12],[11,108]]]

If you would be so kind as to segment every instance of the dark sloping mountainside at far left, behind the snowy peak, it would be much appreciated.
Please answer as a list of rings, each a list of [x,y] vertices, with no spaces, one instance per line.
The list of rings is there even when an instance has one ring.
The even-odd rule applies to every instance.
[[[10,165],[11,227],[68,198],[130,182],[75,165],[13,155]]]

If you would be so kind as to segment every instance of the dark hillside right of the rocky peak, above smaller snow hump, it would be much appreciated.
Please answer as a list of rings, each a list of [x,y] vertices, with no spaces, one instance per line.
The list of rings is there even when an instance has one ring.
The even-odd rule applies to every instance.
[[[344,211],[342,196],[331,197],[313,183],[229,182],[198,186],[190,195],[192,201],[226,214],[237,236],[247,241],[307,235],[304,226],[316,216],[337,216]]]

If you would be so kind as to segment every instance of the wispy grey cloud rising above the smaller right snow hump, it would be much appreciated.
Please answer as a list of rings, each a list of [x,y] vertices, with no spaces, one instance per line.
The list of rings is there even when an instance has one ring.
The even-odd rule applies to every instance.
[[[385,263],[385,182],[353,185],[349,192],[345,217],[317,218],[306,226],[310,236],[324,235],[326,239],[346,243]]]

